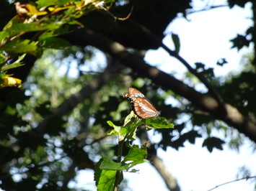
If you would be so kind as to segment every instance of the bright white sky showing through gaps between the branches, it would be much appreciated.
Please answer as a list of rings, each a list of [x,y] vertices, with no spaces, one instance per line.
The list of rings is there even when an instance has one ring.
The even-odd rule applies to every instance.
[[[214,2],[221,4],[223,1]],[[244,34],[248,26],[252,25],[250,7],[251,4],[247,4],[246,9],[235,6],[230,10],[228,7],[222,7],[191,14],[187,16],[191,22],[182,18],[176,19],[169,25],[167,33],[174,32],[179,35],[180,55],[190,65],[194,66],[195,62],[203,62],[207,67],[215,67],[217,76],[230,71],[239,71],[241,56],[248,50],[243,49],[241,52],[237,52],[237,49],[231,50],[229,40],[236,37],[237,34]],[[164,43],[173,49],[172,39],[169,35],[164,39]],[[226,57],[229,64],[224,67],[216,66],[216,62],[222,57]],[[180,62],[169,57],[163,50],[149,51],[146,60],[167,73],[177,73],[175,75],[177,78],[182,78],[181,74],[185,71],[185,67]],[[159,137],[156,135],[152,141],[157,139]],[[201,147],[202,141],[196,139],[195,145],[186,143],[185,147],[179,151],[172,148],[169,148],[167,152],[158,150],[158,156],[163,159],[169,172],[177,178],[182,191],[210,190],[216,185],[235,180],[239,167],[244,165],[250,169],[252,175],[256,175],[256,154],[252,154],[250,141],[244,143],[239,153],[231,151],[227,146],[224,146],[224,151],[213,149],[213,152],[209,153],[206,148]],[[131,190],[167,190],[162,178],[151,167],[151,164],[141,164],[136,166],[136,169],[140,169],[140,171],[124,174]],[[92,171],[79,172],[76,180],[79,182],[78,185],[75,186],[72,183],[70,185],[95,190]],[[250,180],[241,180],[216,188],[214,191],[254,190],[254,183],[251,182]]]

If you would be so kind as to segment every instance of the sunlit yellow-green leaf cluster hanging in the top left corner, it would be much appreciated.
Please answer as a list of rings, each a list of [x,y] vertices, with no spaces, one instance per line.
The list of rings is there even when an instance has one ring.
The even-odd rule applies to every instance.
[[[72,26],[83,27],[79,17],[100,9],[99,3],[97,0],[17,2],[17,15],[0,32],[1,87],[21,87],[21,80],[10,77],[6,71],[24,65],[25,55],[41,57],[46,48],[69,48],[69,42],[57,36],[71,32]]]

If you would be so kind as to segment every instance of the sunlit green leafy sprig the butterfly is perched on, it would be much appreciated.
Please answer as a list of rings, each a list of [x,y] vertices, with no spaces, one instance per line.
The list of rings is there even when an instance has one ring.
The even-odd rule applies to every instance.
[[[97,190],[118,190],[118,185],[123,180],[123,172],[137,172],[133,169],[136,164],[148,162],[146,144],[138,146],[131,145],[130,141],[136,139],[136,130],[139,126],[145,126],[146,130],[169,129],[174,125],[164,117],[156,116],[154,118],[138,118],[133,111],[125,118],[123,126],[115,126],[112,121],[107,121],[112,126],[112,131],[108,135],[118,135],[118,159],[114,162],[112,159],[102,153],[102,159],[97,163],[94,173]],[[123,146],[128,146],[129,152],[123,157]]]

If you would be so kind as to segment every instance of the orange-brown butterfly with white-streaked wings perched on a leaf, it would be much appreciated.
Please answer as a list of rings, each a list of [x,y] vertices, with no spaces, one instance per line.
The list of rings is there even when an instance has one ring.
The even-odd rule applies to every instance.
[[[159,116],[161,113],[161,111],[157,111],[151,101],[139,90],[136,90],[136,88],[129,88],[129,93],[123,93],[123,98],[129,101],[131,108],[138,118],[152,118]]]

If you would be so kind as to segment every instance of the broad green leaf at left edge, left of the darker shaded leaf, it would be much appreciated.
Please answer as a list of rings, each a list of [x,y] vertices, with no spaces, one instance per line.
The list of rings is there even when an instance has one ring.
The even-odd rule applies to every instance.
[[[27,53],[36,57],[42,55],[42,49],[37,47],[36,42],[30,42],[28,39],[15,39],[1,47],[0,50],[12,55],[22,53]]]

